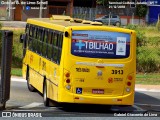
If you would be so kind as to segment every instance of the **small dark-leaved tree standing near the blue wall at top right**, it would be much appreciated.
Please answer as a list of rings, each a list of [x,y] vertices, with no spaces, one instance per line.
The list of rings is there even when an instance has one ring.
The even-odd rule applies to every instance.
[[[140,18],[146,16],[147,10],[148,10],[147,5],[139,4],[136,6],[136,15],[139,17],[139,24],[140,24]]]

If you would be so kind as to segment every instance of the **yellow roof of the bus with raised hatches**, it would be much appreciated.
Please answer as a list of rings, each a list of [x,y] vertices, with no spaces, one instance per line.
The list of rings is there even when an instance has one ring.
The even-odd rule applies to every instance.
[[[58,30],[58,31],[64,31],[64,29],[66,27],[70,27],[70,26],[98,26],[98,28],[100,26],[102,26],[102,23],[100,22],[93,22],[93,21],[86,21],[86,20],[81,20],[81,19],[73,19],[71,18],[70,20],[67,19],[65,20],[64,18],[62,19],[53,19],[52,18],[30,18],[27,20],[27,23],[29,24],[33,24],[33,25],[37,25],[37,26],[42,26],[44,28],[49,28],[49,29],[54,29],[54,30]],[[86,24],[87,23],[87,24]],[[106,27],[106,25],[103,25]],[[121,31],[132,31],[132,30],[127,30],[124,28],[116,28],[116,27],[109,27],[110,29],[119,29]]]

